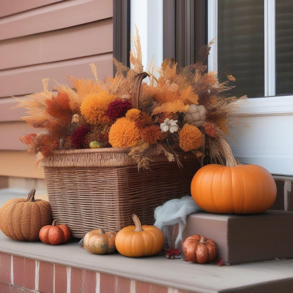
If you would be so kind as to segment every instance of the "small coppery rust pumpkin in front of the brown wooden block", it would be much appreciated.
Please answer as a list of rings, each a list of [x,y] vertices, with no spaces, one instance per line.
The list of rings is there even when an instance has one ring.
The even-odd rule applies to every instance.
[[[202,235],[187,237],[183,243],[182,251],[185,260],[193,263],[211,263],[218,254],[216,242]]]

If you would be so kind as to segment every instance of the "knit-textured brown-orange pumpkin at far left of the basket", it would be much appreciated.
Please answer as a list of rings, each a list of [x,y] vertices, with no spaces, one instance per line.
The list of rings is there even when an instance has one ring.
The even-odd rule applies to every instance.
[[[27,199],[11,199],[0,208],[0,229],[9,238],[37,241],[42,226],[52,223],[49,202],[35,200],[35,191],[33,188]]]

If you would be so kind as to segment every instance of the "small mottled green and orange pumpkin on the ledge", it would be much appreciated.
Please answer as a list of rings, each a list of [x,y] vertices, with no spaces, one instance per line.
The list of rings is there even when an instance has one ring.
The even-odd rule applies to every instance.
[[[84,236],[84,247],[91,253],[105,254],[116,251],[116,232],[106,232],[103,229],[96,229],[86,233]]]

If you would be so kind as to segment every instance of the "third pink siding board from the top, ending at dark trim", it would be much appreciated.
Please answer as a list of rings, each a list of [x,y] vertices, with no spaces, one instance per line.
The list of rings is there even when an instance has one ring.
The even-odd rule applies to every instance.
[[[77,25],[0,41],[0,69],[73,59],[113,51],[113,21]]]

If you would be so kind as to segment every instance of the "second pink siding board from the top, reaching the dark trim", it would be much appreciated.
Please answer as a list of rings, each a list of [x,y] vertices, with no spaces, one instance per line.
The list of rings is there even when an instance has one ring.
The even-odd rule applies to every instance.
[[[0,18],[0,40],[67,28],[112,16],[112,0],[61,1]]]

